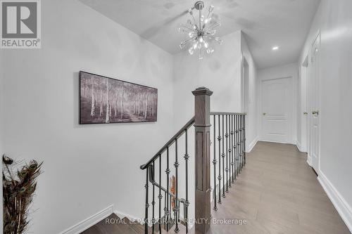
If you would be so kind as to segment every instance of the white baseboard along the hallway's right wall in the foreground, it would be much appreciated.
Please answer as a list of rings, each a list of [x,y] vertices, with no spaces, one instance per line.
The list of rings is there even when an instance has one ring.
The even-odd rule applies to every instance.
[[[339,212],[341,219],[344,220],[347,228],[352,233],[352,209],[350,205],[346,202],[344,197],[341,196],[339,191],[332,185],[325,174],[322,173],[322,171],[319,171],[318,173],[318,181],[320,182],[322,188],[324,188],[325,193],[327,193],[329,199],[332,201],[332,204],[334,204],[337,212]]]

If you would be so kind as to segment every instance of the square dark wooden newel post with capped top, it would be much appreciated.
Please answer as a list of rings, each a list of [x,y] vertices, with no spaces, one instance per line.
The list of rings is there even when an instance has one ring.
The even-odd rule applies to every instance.
[[[210,96],[212,91],[200,87],[192,91],[195,96],[195,147],[196,147],[196,233],[210,228]]]

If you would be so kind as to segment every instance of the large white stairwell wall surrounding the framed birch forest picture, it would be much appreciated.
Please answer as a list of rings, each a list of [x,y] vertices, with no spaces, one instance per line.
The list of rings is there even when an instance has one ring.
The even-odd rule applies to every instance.
[[[59,233],[110,204],[143,217],[139,165],[175,132],[172,56],[73,0],[42,1],[41,49],[1,53],[4,151],[44,160],[30,232]],[[79,125],[80,70],[158,88],[158,122]]]

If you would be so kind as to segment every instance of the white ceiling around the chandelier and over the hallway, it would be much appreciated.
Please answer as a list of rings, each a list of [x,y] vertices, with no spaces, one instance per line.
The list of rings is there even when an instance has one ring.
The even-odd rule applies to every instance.
[[[195,0],[80,0],[172,54],[185,37],[178,26],[187,21]],[[320,0],[210,0],[222,22],[218,35],[237,30],[246,35],[258,68],[298,60]],[[279,46],[272,51],[272,46]]]

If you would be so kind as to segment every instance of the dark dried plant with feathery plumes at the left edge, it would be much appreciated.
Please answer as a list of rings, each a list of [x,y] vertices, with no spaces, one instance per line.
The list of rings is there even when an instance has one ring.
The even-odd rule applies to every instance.
[[[4,234],[23,234],[28,228],[28,212],[42,173],[42,163],[32,160],[21,166],[5,155],[2,158]]]

